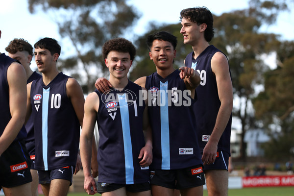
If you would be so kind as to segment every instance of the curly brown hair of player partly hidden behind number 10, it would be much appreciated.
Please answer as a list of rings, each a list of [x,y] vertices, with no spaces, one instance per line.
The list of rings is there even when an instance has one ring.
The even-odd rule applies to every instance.
[[[5,50],[11,54],[15,54],[18,51],[27,51],[29,55],[32,55],[32,56],[34,55],[32,45],[30,45],[23,38],[21,39],[15,38],[14,40],[12,40],[11,42],[9,42]]]

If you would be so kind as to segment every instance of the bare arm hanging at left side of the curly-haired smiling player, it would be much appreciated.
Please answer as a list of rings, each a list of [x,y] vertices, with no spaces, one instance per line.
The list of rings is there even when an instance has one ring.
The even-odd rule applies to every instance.
[[[85,116],[83,120],[82,133],[80,136],[80,154],[85,176],[84,189],[89,195],[94,195],[97,193],[96,182],[94,177],[91,175],[91,157],[98,108],[98,95],[96,93],[89,94],[85,102]],[[94,188],[94,191],[91,191],[91,187]]]

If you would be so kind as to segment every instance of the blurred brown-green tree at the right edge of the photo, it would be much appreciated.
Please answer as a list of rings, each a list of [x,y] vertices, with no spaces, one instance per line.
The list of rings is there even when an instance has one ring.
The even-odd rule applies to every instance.
[[[288,161],[294,147],[294,42],[282,42],[277,56],[279,67],[265,73],[264,91],[253,103],[256,117],[271,136],[263,146],[265,155],[275,161]]]

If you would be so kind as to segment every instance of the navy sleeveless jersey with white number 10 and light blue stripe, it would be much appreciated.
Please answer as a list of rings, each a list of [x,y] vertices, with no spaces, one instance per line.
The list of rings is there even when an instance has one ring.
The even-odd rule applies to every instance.
[[[80,124],[66,94],[68,78],[58,73],[47,86],[42,77],[32,82],[30,101],[37,170],[53,170],[76,164]]]

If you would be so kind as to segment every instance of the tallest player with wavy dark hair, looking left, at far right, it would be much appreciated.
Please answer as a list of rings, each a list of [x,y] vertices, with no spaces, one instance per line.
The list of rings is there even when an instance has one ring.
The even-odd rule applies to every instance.
[[[228,160],[233,109],[233,87],[226,56],[208,42],[214,36],[213,16],[206,7],[181,11],[184,44],[193,51],[185,65],[200,73],[196,88],[196,131],[209,196],[228,193]]]

